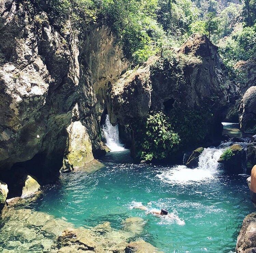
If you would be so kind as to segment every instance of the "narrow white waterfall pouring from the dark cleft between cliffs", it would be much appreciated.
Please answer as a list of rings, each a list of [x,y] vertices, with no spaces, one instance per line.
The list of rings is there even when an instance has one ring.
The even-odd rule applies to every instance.
[[[106,121],[102,126],[102,131],[106,138],[106,145],[112,152],[125,150],[123,144],[119,141],[118,125],[113,126],[110,123],[109,115],[106,115]]]

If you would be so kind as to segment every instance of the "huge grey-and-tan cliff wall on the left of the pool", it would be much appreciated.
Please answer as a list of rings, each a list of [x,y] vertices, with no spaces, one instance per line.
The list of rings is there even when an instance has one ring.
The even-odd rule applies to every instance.
[[[57,173],[67,137],[70,166],[104,153],[99,136],[105,86],[127,61],[103,24],[79,34],[67,20],[59,30],[44,5],[28,4],[0,3],[0,170],[40,159],[37,170]],[[83,153],[72,131],[78,126],[86,139]]]

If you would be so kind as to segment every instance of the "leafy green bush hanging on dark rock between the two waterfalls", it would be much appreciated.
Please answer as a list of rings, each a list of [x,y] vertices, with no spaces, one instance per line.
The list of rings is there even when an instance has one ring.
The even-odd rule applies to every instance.
[[[162,160],[180,142],[179,135],[173,132],[169,118],[162,112],[149,114],[144,130],[138,154],[142,160]]]

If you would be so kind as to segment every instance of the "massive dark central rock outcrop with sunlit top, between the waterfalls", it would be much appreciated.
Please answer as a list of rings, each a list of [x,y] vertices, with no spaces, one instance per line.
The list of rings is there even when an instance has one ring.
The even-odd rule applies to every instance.
[[[194,34],[180,49],[163,48],[160,57],[126,72],[109,88],[107,107],[112,124],[129,126],[134,154],[141,135],[137,130],[149,111],[163,111],[182,137],[180,146],[195,148],[221,135],[223,108],[236,92],[217,47]]]

